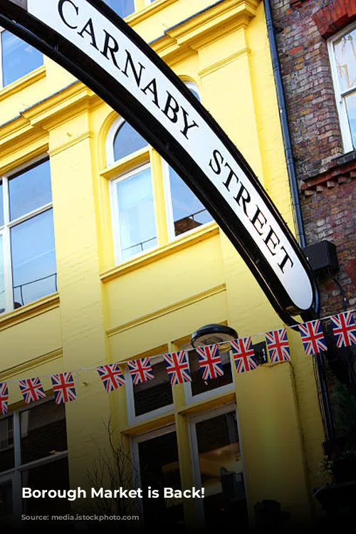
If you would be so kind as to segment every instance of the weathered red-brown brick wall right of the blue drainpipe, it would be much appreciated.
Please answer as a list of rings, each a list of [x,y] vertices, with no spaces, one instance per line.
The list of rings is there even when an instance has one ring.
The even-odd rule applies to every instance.
[[[271,4],[307,244],[335,243],[337,279],[356,308],[356,152],[343,155],[324,38],[356,18],[356,0]],[[322,315],[342,311],[335,283],[321,278],[320,289]]]

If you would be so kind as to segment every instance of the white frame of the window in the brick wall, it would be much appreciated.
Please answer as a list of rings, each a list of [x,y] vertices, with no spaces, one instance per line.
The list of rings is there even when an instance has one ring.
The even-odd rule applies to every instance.
[[[347,97],[348,95],[352,93],[356,94],[356,85],[354,85],[350,89],[347,89],[346,91],[341,90],[339,76],[337,73],[336,58],[335,58],[335,53],[334,53],[334,43],[335,41],[337,41],[337,39],[340,39],[342,36],[346,35],[347,33],[350,33],[351,31],[355,29],[356,29],[356,23],[352,23],[350,25],[347,25],[345,28],[342,28],[341,31],[338,31],[337,33],[335,33],[335,35],[333,35],[332,37],[328,39],[328,53],[329,53],[329,59],[330,59],[331,74],[333,78],[335,101],[336,101],[337,113],[339,115],[342,144],[343,144],[345,153],[356,150],[356,147],[354,148],[352,144],[352,135],[351,135],[349,119],[348,119],[346,103],[345,103],[345,97]]]

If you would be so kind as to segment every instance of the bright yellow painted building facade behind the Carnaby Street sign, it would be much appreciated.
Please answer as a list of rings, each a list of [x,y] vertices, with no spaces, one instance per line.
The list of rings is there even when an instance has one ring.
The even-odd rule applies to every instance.
[[[214,4],[156,0],[148,5],[136,1],[136,11],[127,16],[127,22],[199,95],[295,231],[263,4],[258,0]],[[221,504],[216,501],[221,499],[221,466],[244,473],[250,525],[253,507],[263,499],[280,502],[291,521],[310,523],[315,513],[312,488],[322,482],[318,462],[324,435],[313,361],[305,357],[298,333],[288,330],[291,363],[266,363],[238,375],[226,356],[224,368],[229,367],[230,375],[224,384],[201,383],[195,392],[189,384],[167,388],[162,354],[189,347],[190,335],[201,325],[224,323],[240,337],[253,335],[253,343],[258,343],[266,331],[281,328],[281,320],[209,216],[208,222],[198,221],[194,228],[178,229],[172,174],[157,152],[148,146],[132,152],[135,136],[131,132],[129,150],[119,148],[117,156],[120,135],[116,134],[124,132],[123,120],[91,90],[48,58],[18,80],[7,85],[3,80],[3,85],[0,176],[5,207],[0,221],[4,244],[0,277],[7,300],[0,315],[0,382],[9,383],[9,415],[0,419],[0,490],[8,502],[14,496],[12,504],[3,507],[4,520],[23,510],[38,517],[39,501],[36,506],[29,501],[21,504],[16,493],[21,484],[31,487],[33,468],[49,469],[56,462],[65,466],[68,458],[70,487],[88,486],[87,470],[98,456],[98,447],[106,446],[105,423],[110,419],[115,439],[125,437],[142,483],[142,458],[150,458],[152,451],[163,457],[174,449],[175,456],[172,453],[174,457],[160,466],[166,479],[175,476],[174,483],[182,489],[201,485],[206,489],[204,502],[179,501],[179,524],[184,522],[188,530],[201,526],[204,516],[209,523],[221,520]],[[46,177],[38,179],[29,190],[21,185],[31,178],[31,169],[36,174],[43,166],[46,169],[40,174],[47,176],[47,182]],[[125,207],[124,200],[131,189],[126,189],[125,197],[122,184],[135,184],[129,179],[140,172],[145,176],[148,172],[151,179],[147,224],[155,226],[155,241],[125,256],[126,219],[124,215],[120,219],[120,213],[126,210],[130,219],[131,208]],[[49,175],[51,192],[31,205],[31,196],[41,197],[45,187],[41,184],[46,182],[48,189]],[[28,199],[29,205],[22,207]],[[16,209],[19,215],[12,216],[11,210]],[[51,236],[46,234],[52,214],[55,260]],[[46,234],[48,246],[46,250],[33,246],[38,251],[31,256],[27,248],[33,245],[31,239],[36,241],[36,234],[16,233],[16,229],[21,224],[26,228],[36,216],[38,221],[43,217],[38,235]],[[140,226],[143,223],[137,217]],[[6,254],[12,255],[11,263]],[[41,270],[43,257],[48,269],[55,261],[54,271]],[[39,273],[39,282],[34,283],[41,286],[46,279],[47,285],[34,288],[34,278],[26,281],[26,261]],[[9,290],[11,283],[15,293]],[[33,299],[31,295],[36,297],[38,291],[43,296]],[[159,377],[152,387],[147,382],[146,388],[138,387],[134,393],[127,375],[126,387],[105,392],[95,367],[145,356],[157,357],[151,360]],[[81,370],[88,367],[94,369]],[[77,399],[66,404],[68,449],[54,440],[50,450],[26,457],[26,445],[21,449],[21,443],[31,432],[40,435],[39,421],[63,424],[64,410],[44,409],[37,421],[31,416],[36,404],[23,404],[16,381],[41,376],[43,388],[51,395],[50,375],[70,370],[81,371],[74,374]],[[127,364],[122,370],[127,370]],[[45,405],[38,403],[39,412]],[[229,443],[217,447],[212,438],[211,445],[206,443],[206,436],[219,434],[219,429],[230,432]],[[238,438],[231,437],[237,429]],[[219,461],[221,454],[226,454],[224,462]],[[156,468],[152,466],[153,471]]]

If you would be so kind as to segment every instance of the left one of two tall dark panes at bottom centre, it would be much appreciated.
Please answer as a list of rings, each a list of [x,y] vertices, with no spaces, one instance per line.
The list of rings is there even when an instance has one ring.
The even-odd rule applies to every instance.
[[[147,527],[169,527],[184,532],[183,505],[177,498],[164,499],[163,488],[181,489],[177,435],[169,432],[163,436],[142,441],[139,446],[143,510]],[[147,498],[147,488],[159,491],[159,498]]]

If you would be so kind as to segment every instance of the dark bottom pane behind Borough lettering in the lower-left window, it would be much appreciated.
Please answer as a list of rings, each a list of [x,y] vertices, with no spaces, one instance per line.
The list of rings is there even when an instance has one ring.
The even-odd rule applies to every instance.
[[[22,473],[22,486],[31,488],[32,491],[68,490],[68,460],[64,458],[24,471]],[[53,532],[54,528],[54,532],[59,533],[61,528],[70,528],[70,501],[68,499],[46,496],[44,498],[26,498],[22,502],[26,531],[49,533]]]

